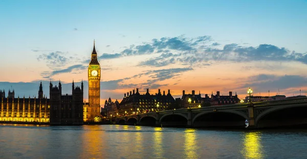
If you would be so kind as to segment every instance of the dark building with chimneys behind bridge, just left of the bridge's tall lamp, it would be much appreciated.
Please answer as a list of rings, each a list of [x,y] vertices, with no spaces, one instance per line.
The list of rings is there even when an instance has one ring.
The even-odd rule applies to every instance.
[[[216,92],[216,95],[211,94],[210,103],[211,105],[226,105],[226,104],[235,104],[239,103],[240,99],[238,95],[232,95],[232,92],[229,92],[229,95],[221,95],[220,91]]]

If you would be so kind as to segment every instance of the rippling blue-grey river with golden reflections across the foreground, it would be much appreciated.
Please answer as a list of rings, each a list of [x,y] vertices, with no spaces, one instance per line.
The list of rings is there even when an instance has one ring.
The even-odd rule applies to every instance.
[[[0,158],[307,158],[307,129],[0,124]]]

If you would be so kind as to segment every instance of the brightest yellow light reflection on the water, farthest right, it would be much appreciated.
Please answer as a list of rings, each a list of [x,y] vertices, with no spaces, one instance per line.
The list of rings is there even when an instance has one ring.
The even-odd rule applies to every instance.
[[[241,151],[243,156],[245,158],[264,158],[260,141],[261,133],[246,133],[243,141],[243,150]]]

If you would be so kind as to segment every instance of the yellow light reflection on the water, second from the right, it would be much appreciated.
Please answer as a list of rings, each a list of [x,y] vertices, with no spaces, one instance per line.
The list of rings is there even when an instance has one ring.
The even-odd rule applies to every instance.
[[[198,147],[195,147],[196,142],[196,135],[195,135],[195,129],[193,128],[187,128],[184,131],[184,137],[185,137],[185,143],[184,143],[184,151],[185,151],[185,158],[199,158],[197,154]]]

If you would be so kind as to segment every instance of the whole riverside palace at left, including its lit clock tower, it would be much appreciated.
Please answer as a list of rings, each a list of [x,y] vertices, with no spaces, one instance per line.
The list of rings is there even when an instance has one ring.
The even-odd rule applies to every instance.
[[[72,83],[72,94],[62,94],[62,86],[50,82],[50,99],[43,95],[42,84],[38,96],[15,97],[15,90],[0,90],[0,121],[40,122],[54,125],[83,124],[100,116],[100,64],[94,47],[88,68],[89,103],[83,103],[83,82],[81,86]]]

